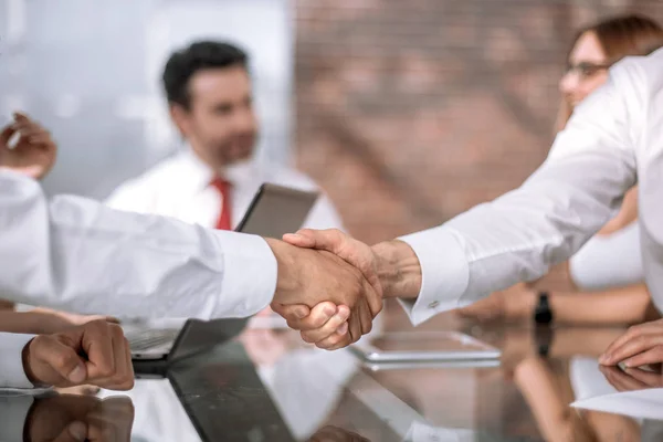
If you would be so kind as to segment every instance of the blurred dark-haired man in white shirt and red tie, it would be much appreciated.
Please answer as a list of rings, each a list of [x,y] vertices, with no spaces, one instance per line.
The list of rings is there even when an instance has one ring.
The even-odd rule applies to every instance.
[[[228,43],[196,42],[170,56],[162,81],[185,148],[120,186],[107,204],[232,230],[263,182],[319,190],[296,170],[252,159],[259,124],[249,57],[242,50]],[[324,194],[305,227],[343,229]]]

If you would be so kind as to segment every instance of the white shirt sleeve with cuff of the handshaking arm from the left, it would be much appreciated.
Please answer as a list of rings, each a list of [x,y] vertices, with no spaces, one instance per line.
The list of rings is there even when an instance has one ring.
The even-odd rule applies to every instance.
[[[260,236],[46,200],[0,172],[0,293],[13,302],[120,317],[242,317],[272,299],[276,260]]]

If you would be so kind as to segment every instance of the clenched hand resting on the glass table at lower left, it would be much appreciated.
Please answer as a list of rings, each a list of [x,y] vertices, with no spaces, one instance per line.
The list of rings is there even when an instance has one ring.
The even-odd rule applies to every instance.
[[[129,343],[118,325],[106,320],[36,336],[23,349],[23,368],[28,379],[38,385],[134,387]]]

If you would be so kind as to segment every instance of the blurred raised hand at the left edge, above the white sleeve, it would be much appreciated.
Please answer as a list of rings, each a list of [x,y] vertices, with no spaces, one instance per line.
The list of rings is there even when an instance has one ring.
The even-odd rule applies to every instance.
[[[10,148],[14,135],[19,138]],[[24,114],[14,113],[14,120],[0,131],[0,168],[42,179],[55,164],[56,154],[51,134]]]

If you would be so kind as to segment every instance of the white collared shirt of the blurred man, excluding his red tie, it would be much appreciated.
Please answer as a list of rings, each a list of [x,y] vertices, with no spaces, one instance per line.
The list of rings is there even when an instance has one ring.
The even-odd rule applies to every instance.
[[[305,175],[281,166],[255,161],[229,167],[223,177],[232,185],[232,225],[236,227],[260,186],[264,182],[301,190],[319,190]],[[161,161],[140,177],[116,189],[106,203],[120,210],[173,217],[179,220],[214,228],[223,206],[221,193],[210,182],[214,172],[190,147]],[[311,210],[303,227],[343,229],[340,217],[323,194]]]

